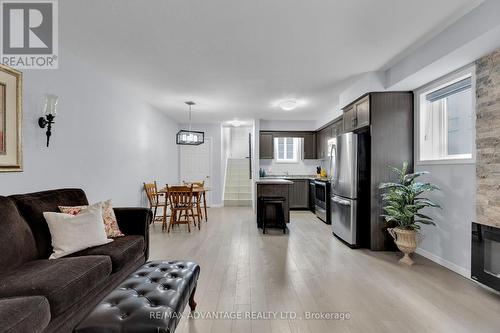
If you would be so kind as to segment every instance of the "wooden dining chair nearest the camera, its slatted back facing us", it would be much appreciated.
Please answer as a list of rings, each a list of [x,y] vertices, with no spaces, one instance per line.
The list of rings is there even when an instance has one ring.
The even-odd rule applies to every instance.
[[[196,227],[196,214],[194,213],[196,207],[193,201],[193,185],[175,185],[168,186],[167,184],[167,198],[170,204],[170,221],[168,227],[166,224],[163,226],[163,230],[167,229],[170,232],[170,228],[176,224],[187,224],[188,231],[191,232],[191,219]],[[200,224],[198,223],[198,230],[200,229]]]

